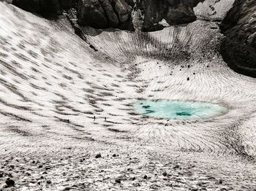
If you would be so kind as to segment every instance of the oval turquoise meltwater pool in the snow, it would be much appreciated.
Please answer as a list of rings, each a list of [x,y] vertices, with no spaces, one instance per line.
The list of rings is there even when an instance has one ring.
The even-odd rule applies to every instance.
[[[205,101],[141,100],[133,104],[137,114],[167,120],[197,120],[217,117],[228,112],[227,106]]]

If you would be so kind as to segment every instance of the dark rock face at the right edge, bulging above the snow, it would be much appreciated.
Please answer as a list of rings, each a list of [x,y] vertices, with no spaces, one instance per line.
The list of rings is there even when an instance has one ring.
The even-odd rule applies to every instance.
[[[222,56],[231,69],[256,77],[256,1],[236,0],[222,22]]]

